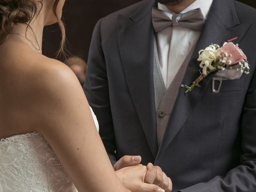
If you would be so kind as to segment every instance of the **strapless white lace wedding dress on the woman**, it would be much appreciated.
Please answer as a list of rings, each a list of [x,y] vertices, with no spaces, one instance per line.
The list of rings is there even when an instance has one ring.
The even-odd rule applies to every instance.
[[[0,192],[78,191],[48,142],[34,132],[0,140]]]

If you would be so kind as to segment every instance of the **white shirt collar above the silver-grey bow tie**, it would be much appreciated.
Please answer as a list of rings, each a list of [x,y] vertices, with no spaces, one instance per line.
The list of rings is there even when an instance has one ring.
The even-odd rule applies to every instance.
[[[182,12],[180,13],[186,13],[188,11],[200,8],[202,11],[202,14],[204,15],[204,18],[207,18],[207,15],[210,11],[211,5],[212,5],[213,0],[196,0],[193,2],[190,6],[185,8]],[[169,10],[165,5],[158,3],[158,9],[169,12],[170,14],[174,14],[171,10]]]

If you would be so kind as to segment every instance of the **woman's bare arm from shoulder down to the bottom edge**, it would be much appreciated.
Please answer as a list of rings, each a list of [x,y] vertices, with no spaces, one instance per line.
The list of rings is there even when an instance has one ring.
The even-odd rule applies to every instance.
[[[80,192],[127,192],[108,159],[76,76],[54,61],[35,88],[33,127],[52,146]]]

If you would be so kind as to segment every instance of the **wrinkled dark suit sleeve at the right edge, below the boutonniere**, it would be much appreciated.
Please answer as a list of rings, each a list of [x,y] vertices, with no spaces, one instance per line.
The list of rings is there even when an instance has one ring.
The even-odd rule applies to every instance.
[[[246,94],[240,126],[243,151],[240,165],[226,176],[216,176],[178,192],[256,192],[256,74]]]

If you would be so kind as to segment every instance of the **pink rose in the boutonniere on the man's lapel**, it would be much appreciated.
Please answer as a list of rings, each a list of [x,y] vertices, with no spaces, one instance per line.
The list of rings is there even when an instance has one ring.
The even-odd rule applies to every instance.
[[[238,44],[235,45],[232,42],[225,42],[223,44],[222,51],[224,51],[224,53],[228,53],[227,59],[231,61],[230,65],[247,60],[246,55],[242,49],[238,47]]]

